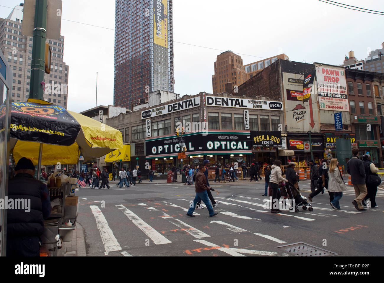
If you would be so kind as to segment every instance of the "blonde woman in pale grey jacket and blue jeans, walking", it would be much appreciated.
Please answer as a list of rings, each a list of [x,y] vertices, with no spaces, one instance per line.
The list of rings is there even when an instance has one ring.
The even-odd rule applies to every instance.
[[[336,158],[331,160],[328,171],[328,191],[334,193],[334,199],[330,202],[333,209],[341,209],[339,200],[343,196],[343,192],[347,190],[339,170],[339,162]]]

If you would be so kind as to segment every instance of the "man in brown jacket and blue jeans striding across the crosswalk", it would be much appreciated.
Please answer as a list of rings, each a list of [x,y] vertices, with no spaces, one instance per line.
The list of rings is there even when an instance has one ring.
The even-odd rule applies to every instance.
[[[207,191],[210,189],[209,186],[207,186],[207,179],[205,178],[204,172],[207,170],[203,164],[200,165],[199,171],[196,173],[196,179],[195,179],[195,192],[196,196],[193,201],[190,204],[190,208],[187,212],[187,216],[189,217],[195,217],[193,215],[193,212],[195,211],[197,202],[203,201],[205,205],[207,206],[209,216],[213,217],[218,214],[218,212],[214,212],[211,203],[209,201],[209,197],[207,194]]]

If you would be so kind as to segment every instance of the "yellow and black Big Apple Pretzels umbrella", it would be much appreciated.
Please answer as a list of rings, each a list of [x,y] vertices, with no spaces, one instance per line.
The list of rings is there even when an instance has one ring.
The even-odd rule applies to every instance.
[[[0,113],[3,105],[0,107]],[[44,100],[12,102],[10,148],[15,161],[40,165],[77,164],[122,148],[119,130]],[[9,152],[10,153],[10,152]]]

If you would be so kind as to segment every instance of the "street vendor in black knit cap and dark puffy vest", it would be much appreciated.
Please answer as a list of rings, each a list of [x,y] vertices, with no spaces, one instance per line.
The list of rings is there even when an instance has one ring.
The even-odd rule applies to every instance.
[[[8,200],[24,199],[29,204],[28,207],[9,209],[7,212],[7,256],[38,257],[44,219],[51,214],[48,188],[33,178],[35,166],[30,159],[21,158],[15,172],[16,176],[8,182]]]

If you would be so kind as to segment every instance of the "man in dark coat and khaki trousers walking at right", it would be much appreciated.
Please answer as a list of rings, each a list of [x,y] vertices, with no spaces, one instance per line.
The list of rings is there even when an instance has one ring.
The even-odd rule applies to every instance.
[[[358,211],[364,211],[361,201],[367,196],[367,186],[365,184],[365,169],[362,161],[359,159],[359,149],[352,149],[353,157],[347,163],[347,172],[351,175],[351,183],[355,189],[356,198],[352,204]]]

